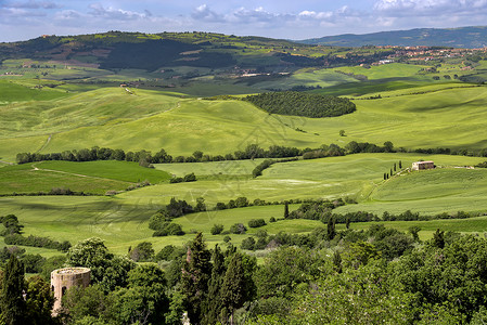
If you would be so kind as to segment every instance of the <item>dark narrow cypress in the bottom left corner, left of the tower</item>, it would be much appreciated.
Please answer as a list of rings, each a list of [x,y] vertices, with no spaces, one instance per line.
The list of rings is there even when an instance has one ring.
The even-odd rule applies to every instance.
[[[14,255],[7,263],[1,296],[2,323],[7,325],[27,324],[27,306],[24,300],[24,264]]]

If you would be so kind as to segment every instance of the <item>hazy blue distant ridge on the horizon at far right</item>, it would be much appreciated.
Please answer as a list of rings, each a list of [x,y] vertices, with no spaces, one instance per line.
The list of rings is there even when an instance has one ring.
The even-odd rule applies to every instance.
[[[298,41],[305,44],[363,47],[450,47],[477,49],[487,46],[487,26],[461,28],[416,28],[410,30],[381,31],[364,35],[344,34]]]

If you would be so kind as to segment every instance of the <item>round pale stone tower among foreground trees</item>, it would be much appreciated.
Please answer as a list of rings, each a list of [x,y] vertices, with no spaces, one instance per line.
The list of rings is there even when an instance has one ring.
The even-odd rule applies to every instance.
[[[74,286],[87,287],[90,285],[91,270],[87,268],[66,268],[51,272],[51,291],[54,292],[53,312],[61,307],[61,298],[66,290]]]

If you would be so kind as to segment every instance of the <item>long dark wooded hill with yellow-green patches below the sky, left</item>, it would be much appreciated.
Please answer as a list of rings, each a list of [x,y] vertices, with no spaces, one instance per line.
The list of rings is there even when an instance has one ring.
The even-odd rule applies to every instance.
[[[215,32],[121,32],[78,36],[42,36],[28,41],[0,43],[0,65],[5,60],[51,62],[92,68],[144,69],[192,67],[253,73],[280,73],[313,66],[372,63],[388,55],[361,51],[345,56],[346,49],[322,48],[264,37]]]

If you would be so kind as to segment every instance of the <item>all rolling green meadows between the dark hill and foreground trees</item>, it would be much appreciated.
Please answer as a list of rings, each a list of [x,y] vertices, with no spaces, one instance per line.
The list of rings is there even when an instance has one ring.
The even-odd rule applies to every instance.
[[[268,50],[258,51],[265,57]],[[239,60],[247,58],[243,55]],[[3,68],[14,68],[18,62],[8,64],[10,66],[3,64]],[[148,79],[157,76],[140,70],[107,74],[89,67],[29,68],[22,78],[2,76],[0,80],[0,160],[14,162],[20,152],[53,153],[92,146],[152,153],[165,148],[172,156],[189,156],[195,151],[225,155],[253,143],[264,148],[270,145],[318,148],[331,143],[345,146],[350,141],[377,145],[392,141],[396,148],[450,147],[471,152],[487,148],[485,86],[460,83],[444,77],[433,81],[434,75],[420,74],[423,67],[426,66],[388,64],[371,68],[300,69],[252,87],[203,76],[184,84],[175,82],[171,91],[137,88],[127,91],[110,87],[117,80],[131,80],[134,76]],[[436,75],[462,76],[461,67],[460,64],[445,64]],[[49,73],[47,78],[54,76],[52,79],[56,80],[82,77],[112,82],[98,87],[37,79],[35,75],[41,72]],[[179,67],[172,73],[191,74],[192,69]],[[367,76],[368,80],[359,81],[357,75]],[[55,87],[49,87],[49,82]],[[320,86],[323,89],[313,92],[353,96],[357,112],[312,119],[270,115],[238,100],[204,100],[215,94],[245,94],[256,89],[294,86]],[[367,99],[379,94],[381,99]],[[345,131],[345,136],[339,135],[341,130]],[[394,164],[401,161],[406,168],[420,159],[434,160],[439,168],[405,171],[383,180]],[[72,243],[99,236],[114,252],[126,253],[130,246],[142,240],[153,243],[156,250],[168,244],[181,245],[196,231],[203,231],[207,242],[214,245],[221,243],[225,236],[210,235],[209,230],[215,223],[229,230],[236,222],[246,224],[257,218],[268,221],[270,217],[282,218],[283,214],[282,205],[192,213],[175,220],[187,235],[152,237],[149,218],[171,197],[193,205],[196,198],[203,197],[209,208],[241,196],[251,202],[348,197],[358,204],[339,207],[336,212],[370,211],[381,216],[384,211],[400,213],[409,209],[421,214],[459,210],[483,214],[487,212],[487,169],[456,167],[474,166],[485,159],[406,153],[357,154],[280,162],[256,179],[252,178],[252,170],[262,159],[157,164],[155,169],[125,161],[42,161],[21,166],[0,162],[1,195],[49,192],[55,187],[97,194],[84,197],[2,196],[0,216],[16,214],[25,224],[26,235]],[[191,172],[196,174],[196,182],[168,182],[171,176]],[[145,180],[152,185],[125,191]],[[107,191],[121,193],[105,196]],[[297,205],[292,205],[292,209],[295,208]],[[370,224],[356,223],[353,227],[367,229]],[[486,217],[385,224],[401,231],[418,224],[423,239],[432,237],[438,227],[479,234],[487,231]],[[281,231],[307,233],[317,226],[324,225],[310,220],[279,220],[268,222],[262,229],[270,234]],[[341,229],[343,225],[338,225]],[[255,232],[251,229],[246,235],[230,236],[232,243],[240,244]],[[28,252],[57,253],[35,248],[28,248]]]

